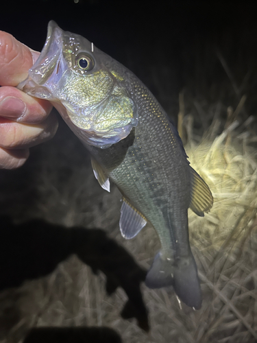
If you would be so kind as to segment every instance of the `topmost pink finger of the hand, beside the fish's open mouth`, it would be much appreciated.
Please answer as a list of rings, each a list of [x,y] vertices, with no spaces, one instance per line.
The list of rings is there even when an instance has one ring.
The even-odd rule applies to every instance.
[[[32,67],[32,53],[11,34],[0,31],[0,86],[17,86]]]

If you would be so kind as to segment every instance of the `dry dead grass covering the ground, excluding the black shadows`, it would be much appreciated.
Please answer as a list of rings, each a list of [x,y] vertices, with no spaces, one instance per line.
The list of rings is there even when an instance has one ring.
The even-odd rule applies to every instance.
[[[151,328],[145,333],[136,320],[121,318],[127,301],[123,289],[108,296],[106,276],[95,275],[73,255],[51,274],[1,292],[1,343],[22,342],[32,327],[93,326],[114,329],[124,343],[257,342],[256,119],[246,113],[244,86],[236,85],[225,59],[218,58],[236,93],[235,110],[186,91],[180,96],[186,153],[215,198],[204,218],[189,212],[201,309],[180,304],[172,289],[142,285]],[[34,149],[23,169],[1,171],[0,187],[1,214],[16,221],[40,217],[69,228],[102,228],[143,268],[159,248],[149,226],[130,241],[121,237],[119,191],[114,185],[110,194],[99,187],[84,148],[64,125],[51,142]]]

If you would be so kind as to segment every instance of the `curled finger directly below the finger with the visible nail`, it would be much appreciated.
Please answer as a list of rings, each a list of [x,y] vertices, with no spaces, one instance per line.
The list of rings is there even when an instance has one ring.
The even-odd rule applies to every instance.
[[[42,123],[28,125],[0,117],[0,147],[25,149],[51,139],[58,128],[56,115],[52,114]]]

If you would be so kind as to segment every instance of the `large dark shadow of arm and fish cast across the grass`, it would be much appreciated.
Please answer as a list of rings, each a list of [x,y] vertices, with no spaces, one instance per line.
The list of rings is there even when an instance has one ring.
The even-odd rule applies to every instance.
[[[103,230],[65,228],[43,220],[12,224],[0,218],[0,291],[17,287],[27,279],[52,272],[58,263],[72,254],[97,274],[106,274],[106,292],[122,287],[128,300],[121,316],[136,318],[138,326],[149,331],[147,309],[140,292],[146,272],[132,256]]]

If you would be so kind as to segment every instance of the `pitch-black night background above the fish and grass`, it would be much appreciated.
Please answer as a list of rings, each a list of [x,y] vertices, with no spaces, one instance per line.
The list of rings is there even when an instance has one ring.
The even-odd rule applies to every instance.
[[[242,94],[231,92],[217,51],[236,85],[244,83],[243,91],[252,96],[246,106],[256,106],[254,1],[38,0],[5,1],[5,6],[1,29],[40,51],[53,19],[134,71],[171,116],[184,86],[210,102],[238,102]]]

